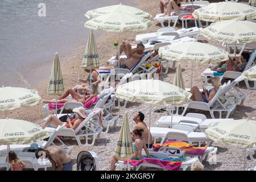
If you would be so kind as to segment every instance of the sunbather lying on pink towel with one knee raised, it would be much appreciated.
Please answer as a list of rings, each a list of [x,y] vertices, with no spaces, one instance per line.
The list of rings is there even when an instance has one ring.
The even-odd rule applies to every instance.
[[[92,89],[95,89],[94,87],[92,87]],[[88,102],[89,100],[91,100],[93,97],[95,97],[98,94],[97,90],[92,90],[93,93],[89,93],[86,89],[84,89],[82,91],[82,93],[84,94],[84,96],[81,98],[79,93],[77,93],[75,90],[73,90],[72,88],[69,88],[64,94],[63,96],[61,96],[58,100],[57,103],[64,103],[64,102],[68,102],[68,101],[76,101],[76,102],[81,102],[82,104],[85,104],[86,102]],[[67,99],[67,97],[69,96],[69,94],[71,94],[72,99]],[[55,104],[56,100],[43,100],[44,104]]]

